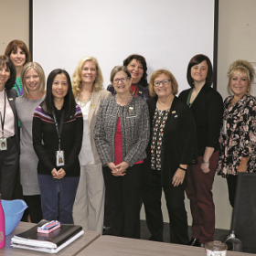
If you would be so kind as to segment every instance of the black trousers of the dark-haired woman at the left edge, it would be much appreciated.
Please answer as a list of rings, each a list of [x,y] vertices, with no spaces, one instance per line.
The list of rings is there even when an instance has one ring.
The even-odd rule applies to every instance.
[[[7,150],[0,151],[1,199],[12,200],[16,189],[19,152],[16,137],[7,139]]]

